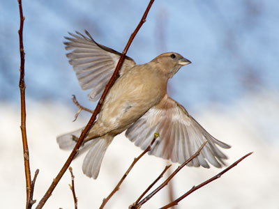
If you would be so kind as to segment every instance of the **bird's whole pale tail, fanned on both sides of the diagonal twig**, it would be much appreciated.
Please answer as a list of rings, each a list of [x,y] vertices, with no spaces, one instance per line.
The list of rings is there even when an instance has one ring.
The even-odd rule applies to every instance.
[[[73,140],[73,137],[80,137],[83,129],[84,127],[57,137],[56,141],[59,144],[59,148],[62,150],[73,150],[76,144],[76,141]],[[82,171],[86,176],[89,176],[90,178],[92,177],[94,179],[98,177],[100,164],[102,163],[105,151],[112,142],[113,138],[114,137],[106,134],[103,137],[86,141],[84,145],[80,146],[77,155],[81,155],[82,153],[85,153],[87,150],[89,150],[82,164]]]

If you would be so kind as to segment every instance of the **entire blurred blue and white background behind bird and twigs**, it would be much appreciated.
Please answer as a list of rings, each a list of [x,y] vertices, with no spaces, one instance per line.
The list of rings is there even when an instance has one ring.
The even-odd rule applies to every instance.
[[[100,44],[122,52],[149,1],[23,1],[27,84],[27,134],[32,173],[40,169],[34,198],[39,201],[69,153],[56,135],[82,127],[83,113],[71,95],[91,109],[66,59],[63,37],[84,29]],[[228,164],[255,153],[216,182],[191,194],[176,208],[279,207],[279,2],[155,1],[128,51],[136,63],[163,52],[192,61],[169,82],[168,92],[213,136],[232,145]],[[20,138],[20,53],[17,1],[0,2],[0,192],[13,208],[24,206],[24,169]],[[119,141],[119,142],[118,142]],[[79,208],[97,208],[140,154],[124,136],[105,156],[98,180],[73,162]],[[51,154],[50,154],[51,153]],[[145,156],[108,208],[128,208],[169,163]],[[172,169],[176,167],[174,164]],[[113,172],[112,172],[113,171]],[[183,169],[174,179],[174,198],[218,173],[219,169]],[[66,173],[46,208],[73,208]],[[5,192],[4,192],[5,191]],[[132,192],[131,192],[132,191]],[[165,197],[167,196],[167,198]],[[12,201],[15,196],[19,201]],[[167,189],[145,208],[168,203]],[[144,207],[143,207],[144,208]]]

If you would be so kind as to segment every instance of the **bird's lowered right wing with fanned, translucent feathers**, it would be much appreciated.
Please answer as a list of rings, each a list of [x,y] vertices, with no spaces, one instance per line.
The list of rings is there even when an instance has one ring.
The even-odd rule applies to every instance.
[[[199,156],[195,157],[188,166],[209,168],[208,162],[210,162],[219,168],[224,164],[223,160],[227,159],[218,146],[222,148],[230,148],[230,146],[212,137],[181,104],[168,95],[133,123],[126,131],[126,137],[144,150],[151,143],[155,132],[159,133],[160,137],[156,139],[158,141],[149,151],[151,155],[182,164],[207,139],[208,142]]]

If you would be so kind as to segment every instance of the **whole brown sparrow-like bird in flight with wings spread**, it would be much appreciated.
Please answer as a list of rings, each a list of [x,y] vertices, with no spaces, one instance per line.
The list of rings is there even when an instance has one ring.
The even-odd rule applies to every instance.
[[[96,102],[112,77],[121,54],[100,45],[88,31],[65,37],[66,56],[73,65],[82,90],[91,90],[88,98]],[[145,150],[153,139],[159,137],[149,151],[172,162],[182,164],[207,140],[206,145],[191,162],[190,167],[223,167],[227,156],[220,148],[228,144],[214,138],[188,114],[188,111],[169,97],[167,82],[179,69],[191,62],[175,52],[156,56],[149,63],[137,65],[125,56],[119,76],[110,88],[98,119],[86,134],[77,155],[86,153],[82,171],[89,178],[98,177],[107,147],[114,137],[126,131],[126,137]],[[56,137],[59,148],[71,150],[84,127]],[[220,148],[219,148],[220,147]]]

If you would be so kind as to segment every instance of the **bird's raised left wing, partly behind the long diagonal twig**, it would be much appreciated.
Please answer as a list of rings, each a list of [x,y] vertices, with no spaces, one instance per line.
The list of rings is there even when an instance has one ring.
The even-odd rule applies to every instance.
[[[72,37],[65,37],[68,42],[64,42],[67,50],[73,50],[66,56],[69,63],[73,65],[77,79],[82,90],[91,89],[88,98],[91,102],[96,102],[109,82],[110,77],[116,68],[121,54],[98,44],[90,34],[85,31],[86,36],[82,33],[69,33]],[[119,75],[123,75],[135,65],[135,61],[126,56]]]

